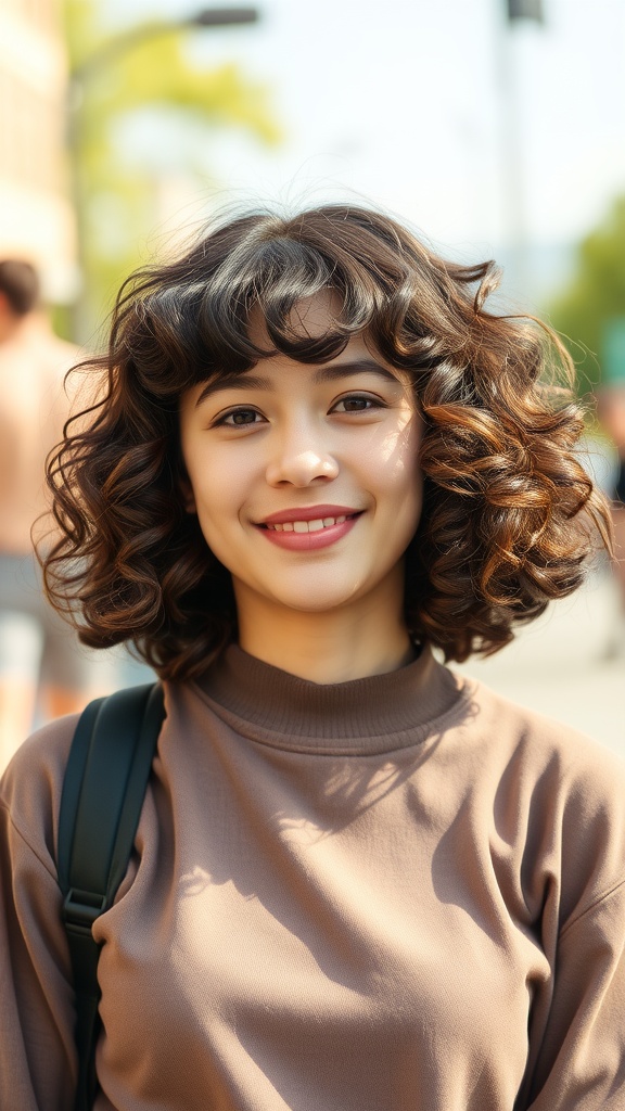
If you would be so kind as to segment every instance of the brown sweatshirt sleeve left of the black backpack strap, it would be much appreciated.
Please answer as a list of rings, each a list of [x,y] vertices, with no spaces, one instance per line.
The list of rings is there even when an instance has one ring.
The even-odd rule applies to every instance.
[[[62,740],[63,727],[52,732],[50,740]],[[7,1111],[71,1108],[77,1074],[53,858],[58,777],[41,737],[18,751],[0,785],[0,1108]]]

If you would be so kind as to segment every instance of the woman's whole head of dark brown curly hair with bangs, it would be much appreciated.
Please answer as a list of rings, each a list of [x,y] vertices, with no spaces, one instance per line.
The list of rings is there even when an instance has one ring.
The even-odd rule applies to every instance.
[[[185,509],[180,398],[277,352],[327,361],[363,333],[409,372],[424,421],[408,628],[446,660],[502,648],[575,590],[611,540],[607,504],[575,453],[583,413],[548,381],[556,366],[554,380],[572,382],[568,357],[533,318],[485,310],[497,281],[493,262],[444,261],[394,219],[347,204],[236,217],[129,278],[108,354],[87,363],[103,377],[97,400],[48,464],[52,604],[86,644],[129,641],[161,678],[204,670],[236,639],[237,618],[230,574]],[[294,307],[328,290],[340,306],[330,330],[298,333]],[[250,339],[252,309],[270,350]]]

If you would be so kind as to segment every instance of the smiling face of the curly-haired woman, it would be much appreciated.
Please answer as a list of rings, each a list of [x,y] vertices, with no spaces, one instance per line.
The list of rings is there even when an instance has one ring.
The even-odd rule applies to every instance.
[[[311,298],[298,327],[325,332],[331,310],[329,296]],[[251,332],[270,346],[262,326]],[[364,338],[323,364],[276,356],[196,386],[180,429],[188,508],[232,574],[239,613],[401,605],[420,422],[408,376]]]

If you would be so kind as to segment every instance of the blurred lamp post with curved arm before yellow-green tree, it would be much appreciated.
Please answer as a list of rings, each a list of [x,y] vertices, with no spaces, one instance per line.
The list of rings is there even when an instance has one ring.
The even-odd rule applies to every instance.
[[[102,47],[95,50],[83,62],[75,67],[69,79],[68,97],[68,146],[71,157],[71,188],[76,213],[77,254],[78,254],[78,293],[73,302],[71,318],[73,339],[86,342],[85,334],[85,226],[86,184],[80,167],[80,148],[82,143],[82,127],[80,112],[83,101],[83,90],[92,78],[106,70],[118,58],[142,46],[151,39],[165,34],[178,33],[192,28],[241,27],[256,23],[259,11],[251,7],[202,8],[189,16],[175,20],[153,20],[133,27],[116,36]]]

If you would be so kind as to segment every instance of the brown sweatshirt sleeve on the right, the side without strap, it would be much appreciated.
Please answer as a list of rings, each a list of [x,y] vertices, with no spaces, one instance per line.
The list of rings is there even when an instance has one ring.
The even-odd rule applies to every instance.
[[[625,764],[598,745],[582,753],[554,823],[543,913],[552,977],[515,1111],[625,1108]]]

